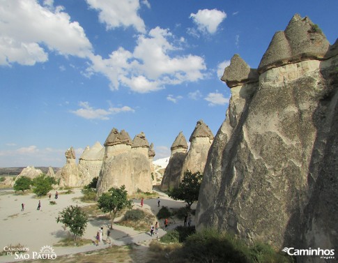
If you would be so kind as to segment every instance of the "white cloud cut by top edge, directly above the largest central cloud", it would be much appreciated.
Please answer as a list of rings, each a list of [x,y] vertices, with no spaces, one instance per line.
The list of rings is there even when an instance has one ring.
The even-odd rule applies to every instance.
[[[139,0],[86,0],[89,6],[99,11],[99,20],[107,29],[135,27],[141,33],[146,31],[144,21],[137,14]],[[148,1],[144,1],[147,5]],[[149,6],[149,3],[148,3]]]

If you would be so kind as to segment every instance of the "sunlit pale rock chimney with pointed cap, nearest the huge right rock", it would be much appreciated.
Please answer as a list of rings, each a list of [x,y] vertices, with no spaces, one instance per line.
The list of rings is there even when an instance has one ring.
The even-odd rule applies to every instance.
[[[190,149],[184,159],[180,181],[183,179],[185,171],[201,172],[204,171],[208,151],[213,143],[213,133],[202,120],[197,121],[196,127],[190,136]]]

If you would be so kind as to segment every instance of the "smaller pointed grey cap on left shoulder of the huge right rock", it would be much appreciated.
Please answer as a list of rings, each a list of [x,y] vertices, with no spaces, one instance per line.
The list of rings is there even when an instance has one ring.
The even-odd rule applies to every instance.
[[[259,74],[254,68],[250,68],[247,63],[238,55],[233,55],[230,65],[224,69],[221,80],[226,82],[229,88],[238,85],[257,82]]]

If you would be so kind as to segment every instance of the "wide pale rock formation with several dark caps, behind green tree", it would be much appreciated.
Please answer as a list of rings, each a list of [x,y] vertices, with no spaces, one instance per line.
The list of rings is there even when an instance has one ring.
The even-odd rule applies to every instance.
[[[144,133],[130,140],[128,133],[113,128],[105,141],[105,156],[98,179],[98,195],[109,188],[125,186],[128,193],[151,191],[149,144]]]

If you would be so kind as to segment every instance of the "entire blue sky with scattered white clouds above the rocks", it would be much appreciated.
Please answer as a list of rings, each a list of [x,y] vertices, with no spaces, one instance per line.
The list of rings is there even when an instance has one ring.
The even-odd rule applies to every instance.
[[[62,167],[112,128],[143,131],[155,159],[199,119],[215,135],[224,67],[257,68],[295,13],[335,42],[337,0],[0,0],[0,167]]]

